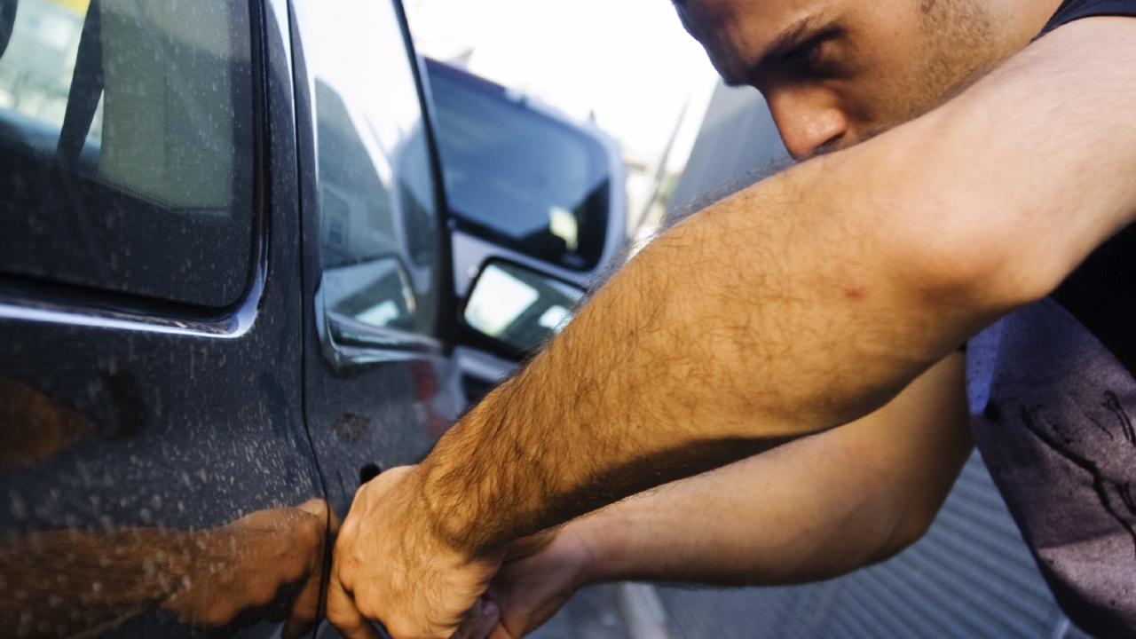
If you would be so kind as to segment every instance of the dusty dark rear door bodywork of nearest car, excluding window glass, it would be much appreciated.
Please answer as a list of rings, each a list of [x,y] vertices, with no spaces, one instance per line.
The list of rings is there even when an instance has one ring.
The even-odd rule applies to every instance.
[[[287,23],[281,2],[249,10],[256,240],[240,300],[0,280],[6,633],[259,636],[279,626],[267,604],[318,584]]]

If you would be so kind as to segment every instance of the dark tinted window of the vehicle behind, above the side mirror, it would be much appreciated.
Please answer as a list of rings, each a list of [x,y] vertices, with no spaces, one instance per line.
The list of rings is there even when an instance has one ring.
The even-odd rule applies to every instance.
[[[608,224],[603,147],[500,86],[436,63],[429,69],[454,217],[534,257],[593,268]]]

